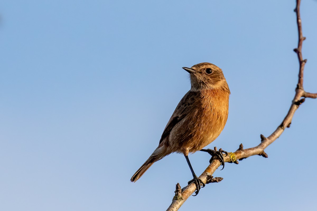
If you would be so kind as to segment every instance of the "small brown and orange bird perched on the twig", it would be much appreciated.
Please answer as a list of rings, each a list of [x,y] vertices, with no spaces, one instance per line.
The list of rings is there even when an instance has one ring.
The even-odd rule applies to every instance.
[[[188,155],[197,151],[209,152],[218,156],[224,165],[224,151],[203,148],[219,136],[226,124],[230,89],[223,71],[214,64],[204,62],[183,69],[190,75],[191,89],[180,100],[167,122],[159,146],[130,181],[136,182],[154,162],[165,156],[173,152],[182,153],[193,176],[188,183],[196,184],[197,195],[205,184],[196,176]]]

